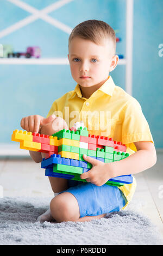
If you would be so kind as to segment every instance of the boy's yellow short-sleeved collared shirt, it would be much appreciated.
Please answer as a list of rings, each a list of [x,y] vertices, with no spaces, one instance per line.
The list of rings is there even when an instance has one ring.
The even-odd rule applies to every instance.
[[[126,144],[130,155],[137,151],[134,142],[153,142],[140,103],[121,87],[115,86],[111,76],[89,99],[82,97],[77,84],[74,90],[53,102],[47,117],[53,113],[64,118],[70,128],[77,121],[83,121],[91,135],[111,137],[114,141]],[[128,204],[136,188],[135,178],[132,184],[118,188]]]

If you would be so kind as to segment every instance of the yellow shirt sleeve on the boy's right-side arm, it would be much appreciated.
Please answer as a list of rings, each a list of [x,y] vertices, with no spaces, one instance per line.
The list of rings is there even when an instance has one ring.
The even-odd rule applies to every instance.
[[[122,144],[137,151],[134,142],[151,141],[154,144],[151,131],[140,103],[136,99],[130,100],[123,112]]]

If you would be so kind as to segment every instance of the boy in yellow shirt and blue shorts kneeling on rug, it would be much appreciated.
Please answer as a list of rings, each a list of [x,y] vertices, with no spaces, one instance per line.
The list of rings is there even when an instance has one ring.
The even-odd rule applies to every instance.
[[[21,120],[23,129],[47,135],[84,121],[92,135],[121,141],[130,153],[126,159],[112,163],[83,155],[92,164],[89,172],[80,175],[87,182],[49,177],[53,192],[59,194],[52,199],[50,209],[38,218],[41,222],[84,222],[124,209],[133,197],[135,179],[133,184],[121,187],[105,182],[115,176],[142,172],[156,163],[153,138],[139,102],[115,86],[108,76],[118,62],[115,51],[115,32],[107,23],[80,23],[68,41],[68,60],[72,77],[78,83],[76,88],[54,101],[47,118],[32,115]],[[30,151],[30,156],[41,162],[43,154]]]

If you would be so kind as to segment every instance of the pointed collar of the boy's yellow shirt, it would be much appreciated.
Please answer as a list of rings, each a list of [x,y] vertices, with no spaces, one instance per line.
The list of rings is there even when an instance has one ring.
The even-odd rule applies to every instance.
[[[103,93],[112,96],[112,93],[114,92],[114,88],[115,88],[115,83],[112,80],[112,77],[108,76],[108,79],[104,82],[104,84],[98,90],[101,90]],[[77,86],[74,88],[74,90],[70,96],[70,99],[72,99],[76,94],[78,95],[78,97],[80,97],[80,98],[82,97],[82,93],[81,93],[79,84],[77,84]]]

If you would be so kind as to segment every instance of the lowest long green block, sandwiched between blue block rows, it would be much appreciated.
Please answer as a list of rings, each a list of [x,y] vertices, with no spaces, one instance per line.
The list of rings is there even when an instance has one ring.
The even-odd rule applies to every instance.
[[[68,166],[66,164],[60,164],[60,163],[57,163],[53,166],[53,172],[58,172],[58,170],[65,173],[78,173],[78,174],[83,173],[82,167]]]

